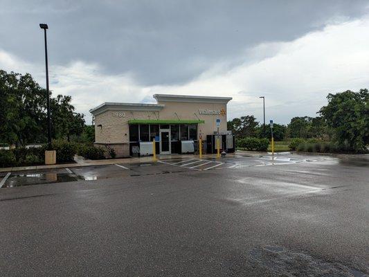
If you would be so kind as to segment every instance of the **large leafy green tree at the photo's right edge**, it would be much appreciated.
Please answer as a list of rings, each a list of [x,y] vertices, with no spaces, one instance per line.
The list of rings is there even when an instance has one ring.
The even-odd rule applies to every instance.
[[[343,91],[328,94],[328,105],[321,108],[327,126],[332,128],[334,139],[352,150],[363,150],[369,143],[369,93]]]

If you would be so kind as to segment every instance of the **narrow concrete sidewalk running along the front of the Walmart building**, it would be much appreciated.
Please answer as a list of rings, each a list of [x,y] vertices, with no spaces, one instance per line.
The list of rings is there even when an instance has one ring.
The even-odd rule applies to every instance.
[[[266,154],[265,152],[263,154]],[[237,151],[235,153],[228,153],[227,157],[235,157],[235,156],[255,156],[260,155],[258,152],[248,152],[248,151]],[[203,159],[215,159],[217,157],[216,154],[204,154],[202,155]],[[157,155],[156,158],[158,160],[165,159],[199,159],[199,155],[195,154],[168,154],[168,155]],[[222,159],[222,158],[219,158]],[[103,160],[89,160],[84,159],[82,157],[75,157],[76,163],[62,163],[56,165],[42,165],[42,166],[18,166],[14,168],[0,168],[0,172],[12,172],[12,171],[21,171],[21,170],[37,170],[37,169],[50,169],[50,168],[77,168],[81,166],[103,166],[110,165],[115,163],[149,163],[152,162],[152,156],[148,157],[139,157],[139,158],[123,158],[123,159],[103,159]]]

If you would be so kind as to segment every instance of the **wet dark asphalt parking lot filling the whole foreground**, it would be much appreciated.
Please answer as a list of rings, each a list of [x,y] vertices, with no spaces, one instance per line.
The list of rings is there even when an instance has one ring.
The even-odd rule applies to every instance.
[[[12,173],[1,276],[369,274],[368,159],[185,160]]]

